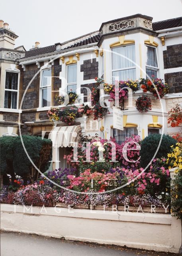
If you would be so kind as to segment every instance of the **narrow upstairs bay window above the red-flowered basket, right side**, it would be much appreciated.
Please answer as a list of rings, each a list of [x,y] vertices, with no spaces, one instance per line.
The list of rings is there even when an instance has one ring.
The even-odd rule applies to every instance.
[[[157,78],[157,53],[156,48],[152,46],[147,47],[147,64],[146,64],[146,73],[150,78]]]

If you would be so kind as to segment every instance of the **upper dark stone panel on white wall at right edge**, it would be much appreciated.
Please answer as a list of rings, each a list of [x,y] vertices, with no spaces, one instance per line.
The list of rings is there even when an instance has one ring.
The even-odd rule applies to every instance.
[[[178,68],[182,66],[182,44],[167,46],[163,51],[164,68]]]

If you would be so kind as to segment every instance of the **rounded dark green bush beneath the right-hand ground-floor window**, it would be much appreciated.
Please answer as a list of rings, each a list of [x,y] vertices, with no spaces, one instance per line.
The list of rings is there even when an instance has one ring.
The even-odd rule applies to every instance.
[[[141,142],[141,150],[140,150],[140,163],[141,167],[145,168],[147,164],[149,164],[150,160],[153,158],[157,147],[160,142],[161,134],[150,134]],[[156,158],[167,158],[167,154],[171,151],[171,146],[176,144],[176,140],[174,140],[169,135],[163,135],[162,141],[160,144],[159,151],[157,152]]]

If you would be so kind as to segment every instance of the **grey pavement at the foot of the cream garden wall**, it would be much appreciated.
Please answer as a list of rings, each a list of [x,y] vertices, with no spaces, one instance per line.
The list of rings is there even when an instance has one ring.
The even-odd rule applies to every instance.
[[[48,238],[31,234],[1,232],[1,256],[176,256],[117,246]]]

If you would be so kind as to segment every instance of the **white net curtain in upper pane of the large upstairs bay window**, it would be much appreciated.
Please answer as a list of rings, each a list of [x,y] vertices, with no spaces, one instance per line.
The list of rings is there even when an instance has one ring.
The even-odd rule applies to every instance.
[[[112,49],[112,69],[128,68],[135,66],[133,62],[126,59],[126,56],[130,60],[135,62],[135,45],[121,46]]]

